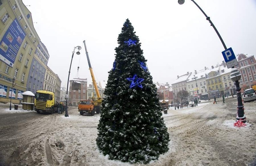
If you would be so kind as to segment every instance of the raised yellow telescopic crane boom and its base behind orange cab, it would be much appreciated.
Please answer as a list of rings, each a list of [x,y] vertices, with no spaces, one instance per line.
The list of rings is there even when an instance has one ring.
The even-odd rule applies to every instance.
[[[85,40],[83,42],[84,42],[85,53],[86,53],[86,57],[87,57],[88,65],[89,65],[89,70],[90,70],[92,80],[93,80],[93,86],[95,87],[95,91],[96,91],[96,95],[97,95],[97,99],[93,98],[93,105],[95,107],[96,113],[99,113],[102,98],[99,94],[99,89],[98,89],[98,86],[97,86],[97,83],[96,83],[96,80],[95,80],[95,77],[94,77],[94,74],[93,74],[93,68],[91,66],[91,62],[90,62],[90,59],[89,59],[89,55],[88,55],[88,51],[87,51],[87,48],[86,48]]]

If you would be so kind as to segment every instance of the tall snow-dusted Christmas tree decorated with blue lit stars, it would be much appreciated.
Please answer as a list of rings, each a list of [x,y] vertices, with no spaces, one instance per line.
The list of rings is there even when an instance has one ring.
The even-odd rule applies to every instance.
[[[169,133],[135,33],[127,19],[108,72],[96,143],[109,159],[148,163],[168,151]]]

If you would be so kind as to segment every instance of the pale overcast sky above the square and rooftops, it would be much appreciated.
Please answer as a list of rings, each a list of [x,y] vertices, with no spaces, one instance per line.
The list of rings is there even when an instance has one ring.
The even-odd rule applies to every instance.
[[[255,0],[195,0],[211,18],[227,48],[256,55]],[[221,63],[224,47],[203,13],[190,0],[23,0],[31,11],[35,30],[50,54],[48,66],[67,86],[72,78],[91,75],[86,41],[96,81],[107,80],[117,37],[128,18],[139,36],[153,81],[172,83],[177,75]],[[77,72],[77,67],[79,72]]]

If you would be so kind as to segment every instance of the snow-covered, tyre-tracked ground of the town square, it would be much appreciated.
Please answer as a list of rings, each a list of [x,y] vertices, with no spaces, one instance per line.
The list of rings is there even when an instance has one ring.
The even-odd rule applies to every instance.
[[[163,114],[171,139],[169,151],[147,165],[255,164],[256,102],[245,103],[248,123],[243,128],[233,126],[236,98],[217,102],[171,107]],[[0,104],[0,165],[145,165],[108,160],[99,152],[95,141],[99,114],[81,116],[77,107],[69,107],[65,117],[22,110],[22,105],[9,110],[9,104]]]

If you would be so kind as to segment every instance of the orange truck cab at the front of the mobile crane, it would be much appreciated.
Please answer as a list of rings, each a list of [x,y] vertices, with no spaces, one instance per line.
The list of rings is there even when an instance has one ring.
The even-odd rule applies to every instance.
[[[92,100],[81,100],[78,103],[78,112],[80,115],[84,115],[84,113],[89,113],[91,116],[95,114],[95,107]]]

